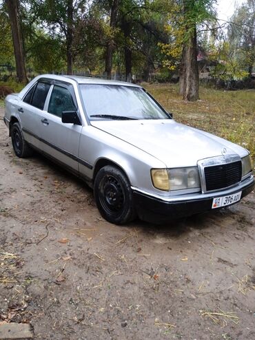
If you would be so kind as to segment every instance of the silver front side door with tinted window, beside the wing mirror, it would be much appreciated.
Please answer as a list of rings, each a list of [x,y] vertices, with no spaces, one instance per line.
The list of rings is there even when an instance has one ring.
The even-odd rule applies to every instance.
[[[81,125],[62,123],[63,111],[78,111],[72,85],[57,82],[51,89],[46,103],[48,111],[43,112],[41,138],[43,151],[78,171],[79,140]]]

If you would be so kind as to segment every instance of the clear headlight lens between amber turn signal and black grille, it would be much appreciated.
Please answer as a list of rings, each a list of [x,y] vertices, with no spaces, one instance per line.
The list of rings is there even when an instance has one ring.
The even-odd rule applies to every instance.
[[[168,169],[170,190],[200,188],[197,167]]]

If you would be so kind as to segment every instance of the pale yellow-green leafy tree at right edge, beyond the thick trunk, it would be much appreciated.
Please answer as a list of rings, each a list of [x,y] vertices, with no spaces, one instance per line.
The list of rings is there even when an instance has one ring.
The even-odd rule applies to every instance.
[[[203,30],[203,33],[200,43],[207,52],[207,60],[214,65],[210,71],[214,78],[230,84],[230,81],[243,80],[251,75],[255,61],[254,0],[236,8],[229,22],[215,24],[210,31]]]

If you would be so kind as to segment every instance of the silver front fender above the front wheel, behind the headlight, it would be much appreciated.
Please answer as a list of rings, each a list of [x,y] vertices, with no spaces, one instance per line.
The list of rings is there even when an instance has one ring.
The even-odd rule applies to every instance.
[[[152,168],[165,168],[166,165],[145,151],[134,147],[115,136],[101,131],[92,125],[83,127],[79,147],[79,158],[91,165],[79,164],[79,171],[93,180],[94,171],[98,164],[113,162],[123,170],[132,187],[163,194],[152,185],[150,170]]]

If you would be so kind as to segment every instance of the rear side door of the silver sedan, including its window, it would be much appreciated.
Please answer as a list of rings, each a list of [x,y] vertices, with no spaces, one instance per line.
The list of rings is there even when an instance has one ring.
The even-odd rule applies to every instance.
[[[18,108],[23,136],[31,145],[42,149],[41,129],[45,99],[50,90],[50,81],[39,80],[24,96]]]

